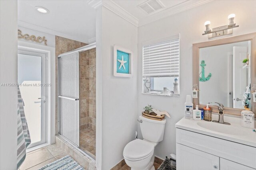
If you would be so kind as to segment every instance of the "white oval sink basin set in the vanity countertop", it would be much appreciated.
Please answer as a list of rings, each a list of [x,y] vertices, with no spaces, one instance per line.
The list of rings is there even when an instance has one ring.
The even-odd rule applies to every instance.
[[[214,123],[214,122],[208,122],[208,121],[199,121],[197,124],[204,128],[208,129],[210,131],[216,131],[219,133],[225,133],[228,135],[249,135],[248,131],[244,131],[241,128],[234,127],[231,125],[223,125],[220,123]]]

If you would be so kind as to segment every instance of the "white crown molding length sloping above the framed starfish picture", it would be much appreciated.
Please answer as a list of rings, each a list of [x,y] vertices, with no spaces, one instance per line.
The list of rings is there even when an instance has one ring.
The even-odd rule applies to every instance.
[[[132,23],[133,25],[135,25],[136,27],[138,27],[139,20],[136,17],[134,17],[132,14],[130,14],[129,12],[124,10],[124,8],[122,8],[121,6],[116,4],[114,1],[104,0],[104,1],[102,1],[102,6],[104,6],[108,10],[114,12],[116,15],[124,18],[126,21],[128,21],[128,22]]]

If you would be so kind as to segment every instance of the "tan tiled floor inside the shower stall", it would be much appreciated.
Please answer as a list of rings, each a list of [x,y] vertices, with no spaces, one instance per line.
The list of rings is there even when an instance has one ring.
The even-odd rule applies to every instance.
[[[80,149],[84,150],[95,160],[96,134],[95,130],[86,128],[80,130]]]

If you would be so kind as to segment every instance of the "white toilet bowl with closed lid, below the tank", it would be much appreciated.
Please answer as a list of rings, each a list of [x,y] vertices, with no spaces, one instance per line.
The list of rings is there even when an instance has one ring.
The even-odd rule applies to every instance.
[[[141,139],[124,147],[124,160],[131,170],[154,170],[154,145]]]

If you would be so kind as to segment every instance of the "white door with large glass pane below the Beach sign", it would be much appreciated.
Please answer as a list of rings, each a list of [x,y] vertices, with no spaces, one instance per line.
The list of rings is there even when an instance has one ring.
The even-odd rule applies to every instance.
[[[31,148],[46,143],[46,54],[18,50],[18,83]]]

